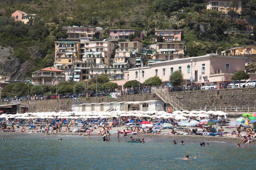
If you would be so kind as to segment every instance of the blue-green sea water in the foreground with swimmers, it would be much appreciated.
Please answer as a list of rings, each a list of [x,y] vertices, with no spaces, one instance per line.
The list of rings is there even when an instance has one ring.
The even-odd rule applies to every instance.
[[[134,136],[135,137],[135,136]],[[44,139],[46,138],[46,139]],[[57,140],[62,138],[63,140]],[[1,169],[254,169],[255,145],[236,148],[224,142],[145,138],[145,143],[127,143],[129,138],[8,135],[0,139]],[[207,142],[205,142],[206,144]],[[189,160],[183,160],[185,154]],[[196,157],[194,159],[194,157]]]

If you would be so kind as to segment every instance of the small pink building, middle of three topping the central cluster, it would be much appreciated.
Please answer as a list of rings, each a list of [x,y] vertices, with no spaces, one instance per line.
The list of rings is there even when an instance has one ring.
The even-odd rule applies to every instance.
[[[138,32],[135,29],[110,29],[109,35],[112,36],[114,39],[129,39],[130,34],[134,34]]]

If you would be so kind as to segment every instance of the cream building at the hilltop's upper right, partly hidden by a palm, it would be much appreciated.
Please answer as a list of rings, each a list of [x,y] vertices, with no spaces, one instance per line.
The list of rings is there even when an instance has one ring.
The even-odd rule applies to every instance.
[[[234,10],[236,11],[237,14],[241,14],[242,10],[242,0],[237,0],[238,3],[238,8],[235,8]],[[223,14],[228,14],[230,0],[221,0],[221,1],[212,1],[212,0],[207,0],[207,10],[216,10],[216,11],[221,11]]]

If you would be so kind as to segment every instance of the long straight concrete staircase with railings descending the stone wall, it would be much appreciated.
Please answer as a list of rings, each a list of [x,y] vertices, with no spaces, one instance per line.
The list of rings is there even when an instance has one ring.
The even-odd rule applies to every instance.
[[[160,97],[164,103],[169,103],[176,110],[183,110],[182,108],[186,108],[186,106],[182,104],[175,96],[170,96],[169,93],[161,87],[152,87],[151,92]]]

